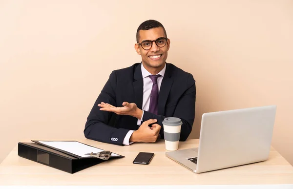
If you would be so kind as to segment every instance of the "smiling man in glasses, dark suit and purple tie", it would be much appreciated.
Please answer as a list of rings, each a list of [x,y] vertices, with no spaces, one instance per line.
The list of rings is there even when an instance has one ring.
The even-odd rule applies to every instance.
[[[185,141],[195,114],[193,76],[166,63],[170,40],[160,22],[143,22],[136,41],[142,62],[110,74],[89,113],[84,136],[116,145],[153,143],[164,138],[164,118],[178,117],[183,122],[180,141]]]

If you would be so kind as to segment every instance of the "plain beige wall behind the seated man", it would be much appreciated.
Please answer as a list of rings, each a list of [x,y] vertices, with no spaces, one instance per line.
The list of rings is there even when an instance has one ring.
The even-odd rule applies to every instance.
[[[0,0],[0,162],[25,139],[84,138],[110,72],[141,61],[148,19],[196,80],[190,138],[205,112],[277,105],[272,146],[293,164],[292,0]]]

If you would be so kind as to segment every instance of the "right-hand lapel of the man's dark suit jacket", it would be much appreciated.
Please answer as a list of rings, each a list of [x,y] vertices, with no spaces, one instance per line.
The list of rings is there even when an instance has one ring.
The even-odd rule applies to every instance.
[[[170,64],[166,63],[166,71],[165,71],[164,78],[163,78],[160,92],[159,92],[159,104],[158,104],[159,115],[165,115],[165,105],[166,105],[167,98],[169,96],[169,92],[173,84],[171,73],[172,73],[171,66]]]

